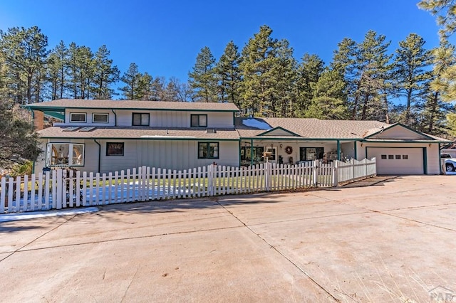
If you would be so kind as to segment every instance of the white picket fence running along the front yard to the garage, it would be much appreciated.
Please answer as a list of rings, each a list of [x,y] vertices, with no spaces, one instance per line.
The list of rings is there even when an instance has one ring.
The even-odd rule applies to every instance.
[[[209,165],[184,171],[142,166],[109,174],[53,169],[23,178],[1,178],[0,213],[330,187],[375,174],[375,159],[356,162]]]

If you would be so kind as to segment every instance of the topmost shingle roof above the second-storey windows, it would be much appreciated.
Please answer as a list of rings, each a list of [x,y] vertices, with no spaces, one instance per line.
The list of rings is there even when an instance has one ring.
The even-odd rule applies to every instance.
[[[36,110],[63,110],[65,108],[108,108],[113,110],[196,110],[217,112],[239,112],[233,103],[217,102],[165,102],[165,101],[138,101],[138,100],[85,100],[60,99],[24,105]]]

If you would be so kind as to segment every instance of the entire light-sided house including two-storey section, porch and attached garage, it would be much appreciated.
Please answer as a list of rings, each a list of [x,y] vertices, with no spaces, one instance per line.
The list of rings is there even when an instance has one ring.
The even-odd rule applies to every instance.
[[[236,117],[232,103],[53,100],[33,111],[43,155],[35,164],[108,172],[138,166],[192,169],[268,161],[377,159],[379,174],[440,174],[448,140],[378,121]],[[61,123],[42,129],[44,115]]]

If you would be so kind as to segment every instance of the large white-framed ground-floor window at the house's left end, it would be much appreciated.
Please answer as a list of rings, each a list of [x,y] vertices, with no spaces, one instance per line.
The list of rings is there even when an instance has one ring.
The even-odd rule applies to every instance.
[[[84,144],[48,143],[46,166],[84,166]]]

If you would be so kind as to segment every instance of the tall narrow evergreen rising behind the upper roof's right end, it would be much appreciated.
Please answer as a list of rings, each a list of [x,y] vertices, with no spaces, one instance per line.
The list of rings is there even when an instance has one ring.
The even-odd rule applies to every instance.
[[[240,106],[241,73],[239,63],[241,55],[233,41],[229,41],[217,63],[216,72],[219,80],[219,101],[232,102]]]

